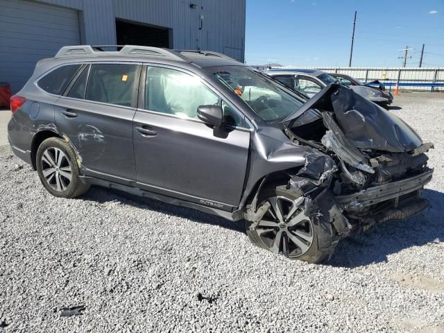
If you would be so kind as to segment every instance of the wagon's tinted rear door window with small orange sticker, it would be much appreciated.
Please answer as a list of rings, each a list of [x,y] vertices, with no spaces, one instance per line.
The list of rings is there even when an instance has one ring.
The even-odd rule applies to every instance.
[[[92,65],[86,89],[86,99],[131,106],[137,69],[137,65]]]

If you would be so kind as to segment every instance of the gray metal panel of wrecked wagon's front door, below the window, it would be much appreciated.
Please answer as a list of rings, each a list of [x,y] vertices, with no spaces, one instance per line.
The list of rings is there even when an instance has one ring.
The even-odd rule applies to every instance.
[[[250,132],[210,128],[202,121],[137,111],[134,119],[137,182],[206,198],[223,206],[239,204]],[[139,133],[145,126],[156,135]]]

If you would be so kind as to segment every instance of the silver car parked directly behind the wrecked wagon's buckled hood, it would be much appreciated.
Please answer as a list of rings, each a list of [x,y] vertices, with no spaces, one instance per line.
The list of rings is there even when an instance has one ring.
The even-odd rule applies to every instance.
[[[335,83],[336,81],[341,82],[341,80],[331,74],[318,69],[271,69],[267,71],[266,74],[284,83],[287,87],[302,92],[302,94],[306,94],[309,97],[313,97],[320,92],[323,87],[331,83]],[[388,105],[393,101],[391,94],[387,94],[375,87],[350,85],[350,88],[357,94],[365,97],[369,101],[377,103],[377,105],[383,108],[388,108]]]

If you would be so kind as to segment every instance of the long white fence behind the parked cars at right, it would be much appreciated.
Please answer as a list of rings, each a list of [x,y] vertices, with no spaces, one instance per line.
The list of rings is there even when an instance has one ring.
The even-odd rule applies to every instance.
[[[295,67],[279,67],[295,68]],[[379,80],[387,89],[426,90],[444,92],[444,67],[298,67],[314,68],[327,73],[352,76],[364,83]]]

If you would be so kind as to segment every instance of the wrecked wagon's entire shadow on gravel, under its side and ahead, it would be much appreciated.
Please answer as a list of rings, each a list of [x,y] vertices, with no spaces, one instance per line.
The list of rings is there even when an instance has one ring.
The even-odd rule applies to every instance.
[[[343,239],[339,242],[330,260],[323,264],[347,268],[366,266],[368,264],[387,262],[389,255],[399,253],[413,246],[424,246],[436,241],[444,241],[444,228],[441,217],[444,215],[444,194],[432,189],[425,189],[422,191],[422,194],[424,198],[430,201],[430,206],[426,210],[409,219],[388,221],[376,225],[364,234]],[[153,210],[198,223],[217,225],[221,228],[245,233],[243,221],[229,221],[219,216],[187,207],[162,203],[161,201],[142,196],[135,196],[117,189],[92,187],[80,199],[96,203],[119,200],[122,203],[137,208]]]

